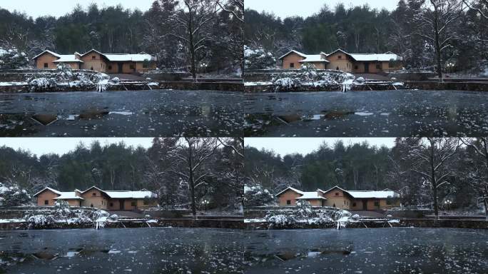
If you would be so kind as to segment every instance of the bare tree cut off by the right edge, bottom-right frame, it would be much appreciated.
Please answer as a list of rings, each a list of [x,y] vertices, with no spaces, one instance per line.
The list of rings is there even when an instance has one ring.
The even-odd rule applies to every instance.
[[[469,165],[468,182],[478,192],[479,201],[483,202],[484,213],[488,220],[488,137],[460,138],[462,143],[480,156],[482,165]]]

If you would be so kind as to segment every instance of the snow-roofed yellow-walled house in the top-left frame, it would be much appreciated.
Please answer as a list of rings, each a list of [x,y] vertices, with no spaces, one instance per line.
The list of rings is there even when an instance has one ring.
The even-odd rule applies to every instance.
[[[138,73],[156,69],[156,56],[140,54],[102,54],[92,49],[86,54],[75,52],[71,55],[43,51],[34,57],[36,68],[56,69],[59,64],[66,64],[73,69],[86,69],[106,73]]]

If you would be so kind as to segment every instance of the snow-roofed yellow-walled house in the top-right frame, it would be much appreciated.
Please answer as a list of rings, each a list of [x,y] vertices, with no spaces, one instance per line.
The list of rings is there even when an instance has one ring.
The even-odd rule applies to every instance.
[[[402,57],[392,52],[385,54],[348,54],[337,49],[330,54],[302,54],[290,51],[280,57],[284,69],[300,69],[303,64],[313,64],[317,69],[334,69],[350,73],[382,73],[402,68]]]

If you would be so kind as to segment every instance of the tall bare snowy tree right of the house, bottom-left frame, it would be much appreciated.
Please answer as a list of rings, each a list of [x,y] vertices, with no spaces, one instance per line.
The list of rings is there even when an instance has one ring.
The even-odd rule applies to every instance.
[[[173,162],[168,172],[188,182],[191,211],[194,217],[196,216],[195,189],[206,183],[205,177],[212,175],[212,171],[206,165],[219,146],[217,138],[184,138],[170,148],[166,156],[166,159]]]

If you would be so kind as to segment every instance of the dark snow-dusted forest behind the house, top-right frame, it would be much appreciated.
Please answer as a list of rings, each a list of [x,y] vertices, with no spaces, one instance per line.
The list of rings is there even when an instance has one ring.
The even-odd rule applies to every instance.
[[[246,9],[245,44],[275,58],[290,49],[392,51],[404,58],[406,68],[434,71],[440,65],[447,72],[485,73],[487,14],[487,0],[400,0],[393,11],[325,4],[312,16],[283,19],[273,11]]]

